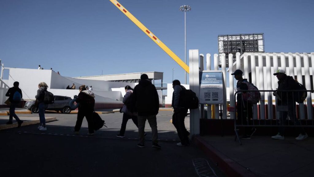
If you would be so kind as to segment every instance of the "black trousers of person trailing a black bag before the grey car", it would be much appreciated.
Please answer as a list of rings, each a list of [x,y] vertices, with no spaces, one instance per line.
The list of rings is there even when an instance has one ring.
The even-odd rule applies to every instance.
[[[81,129],[83,119],[84,117],[86,117],[88,123],[88,132],[94,133],[93,112],[94,110],[92,109],[78,108],[78,117],[76,120],[74,131],[79,131]]]

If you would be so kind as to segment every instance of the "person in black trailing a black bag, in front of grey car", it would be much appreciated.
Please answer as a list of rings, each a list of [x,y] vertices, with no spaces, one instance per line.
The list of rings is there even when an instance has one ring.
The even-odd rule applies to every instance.
[[[83,119],[84,117],[86,117],[88,123],[88,135],[94,135],[93,113],[95,106],[95,96],[92,92],[86,90],[85,85],[79,86],[78,90],[79,94],[76,102],[79,103],[79,106],[77,120],[74,127],[74,133],[79,134]]]

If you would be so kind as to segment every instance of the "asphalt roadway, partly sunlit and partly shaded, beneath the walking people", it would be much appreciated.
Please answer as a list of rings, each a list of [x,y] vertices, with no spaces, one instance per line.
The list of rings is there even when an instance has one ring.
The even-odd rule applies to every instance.
[[[0,131],[0,176],[225,176],[193,144],[176,146],[179,139],[170,123],[171,111],[157,115],[161,149],[151,147],[148,123],[145,148],[136,146],[138,132],[132,120],[126,137],[117,138],[121,113],[100,114],[108,128],[94,136],[87,135],[86,119],[80,134],[73,134],[76,114],[46,116],[57,121],[47,123],[45,132],[37,130],[38,124]],[[189,117],[185,122],[188,125]]]

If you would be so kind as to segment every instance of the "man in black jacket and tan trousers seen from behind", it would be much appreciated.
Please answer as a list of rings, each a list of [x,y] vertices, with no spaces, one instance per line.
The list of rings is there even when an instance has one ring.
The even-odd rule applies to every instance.
[[[138,147],[144,146],[144,128],[146,119],[152,128],[152,147],[161,148],[158,145],[158,131],[156,115],[159,111],[159,96],[155,86],[150,82],[146,74],[141,75],[141,80],[135,86],[132,94],[132,105],[138,112]]]

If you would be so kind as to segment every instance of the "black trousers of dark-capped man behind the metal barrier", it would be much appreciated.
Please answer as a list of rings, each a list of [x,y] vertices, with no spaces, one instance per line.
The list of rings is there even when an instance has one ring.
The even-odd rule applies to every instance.
[[[238,125],[250,125],[250,119],[253,118],[253,105],[246,101],[237,102],[237,124]],[[251,135],[252,127],[245,127],[244,134]]]

